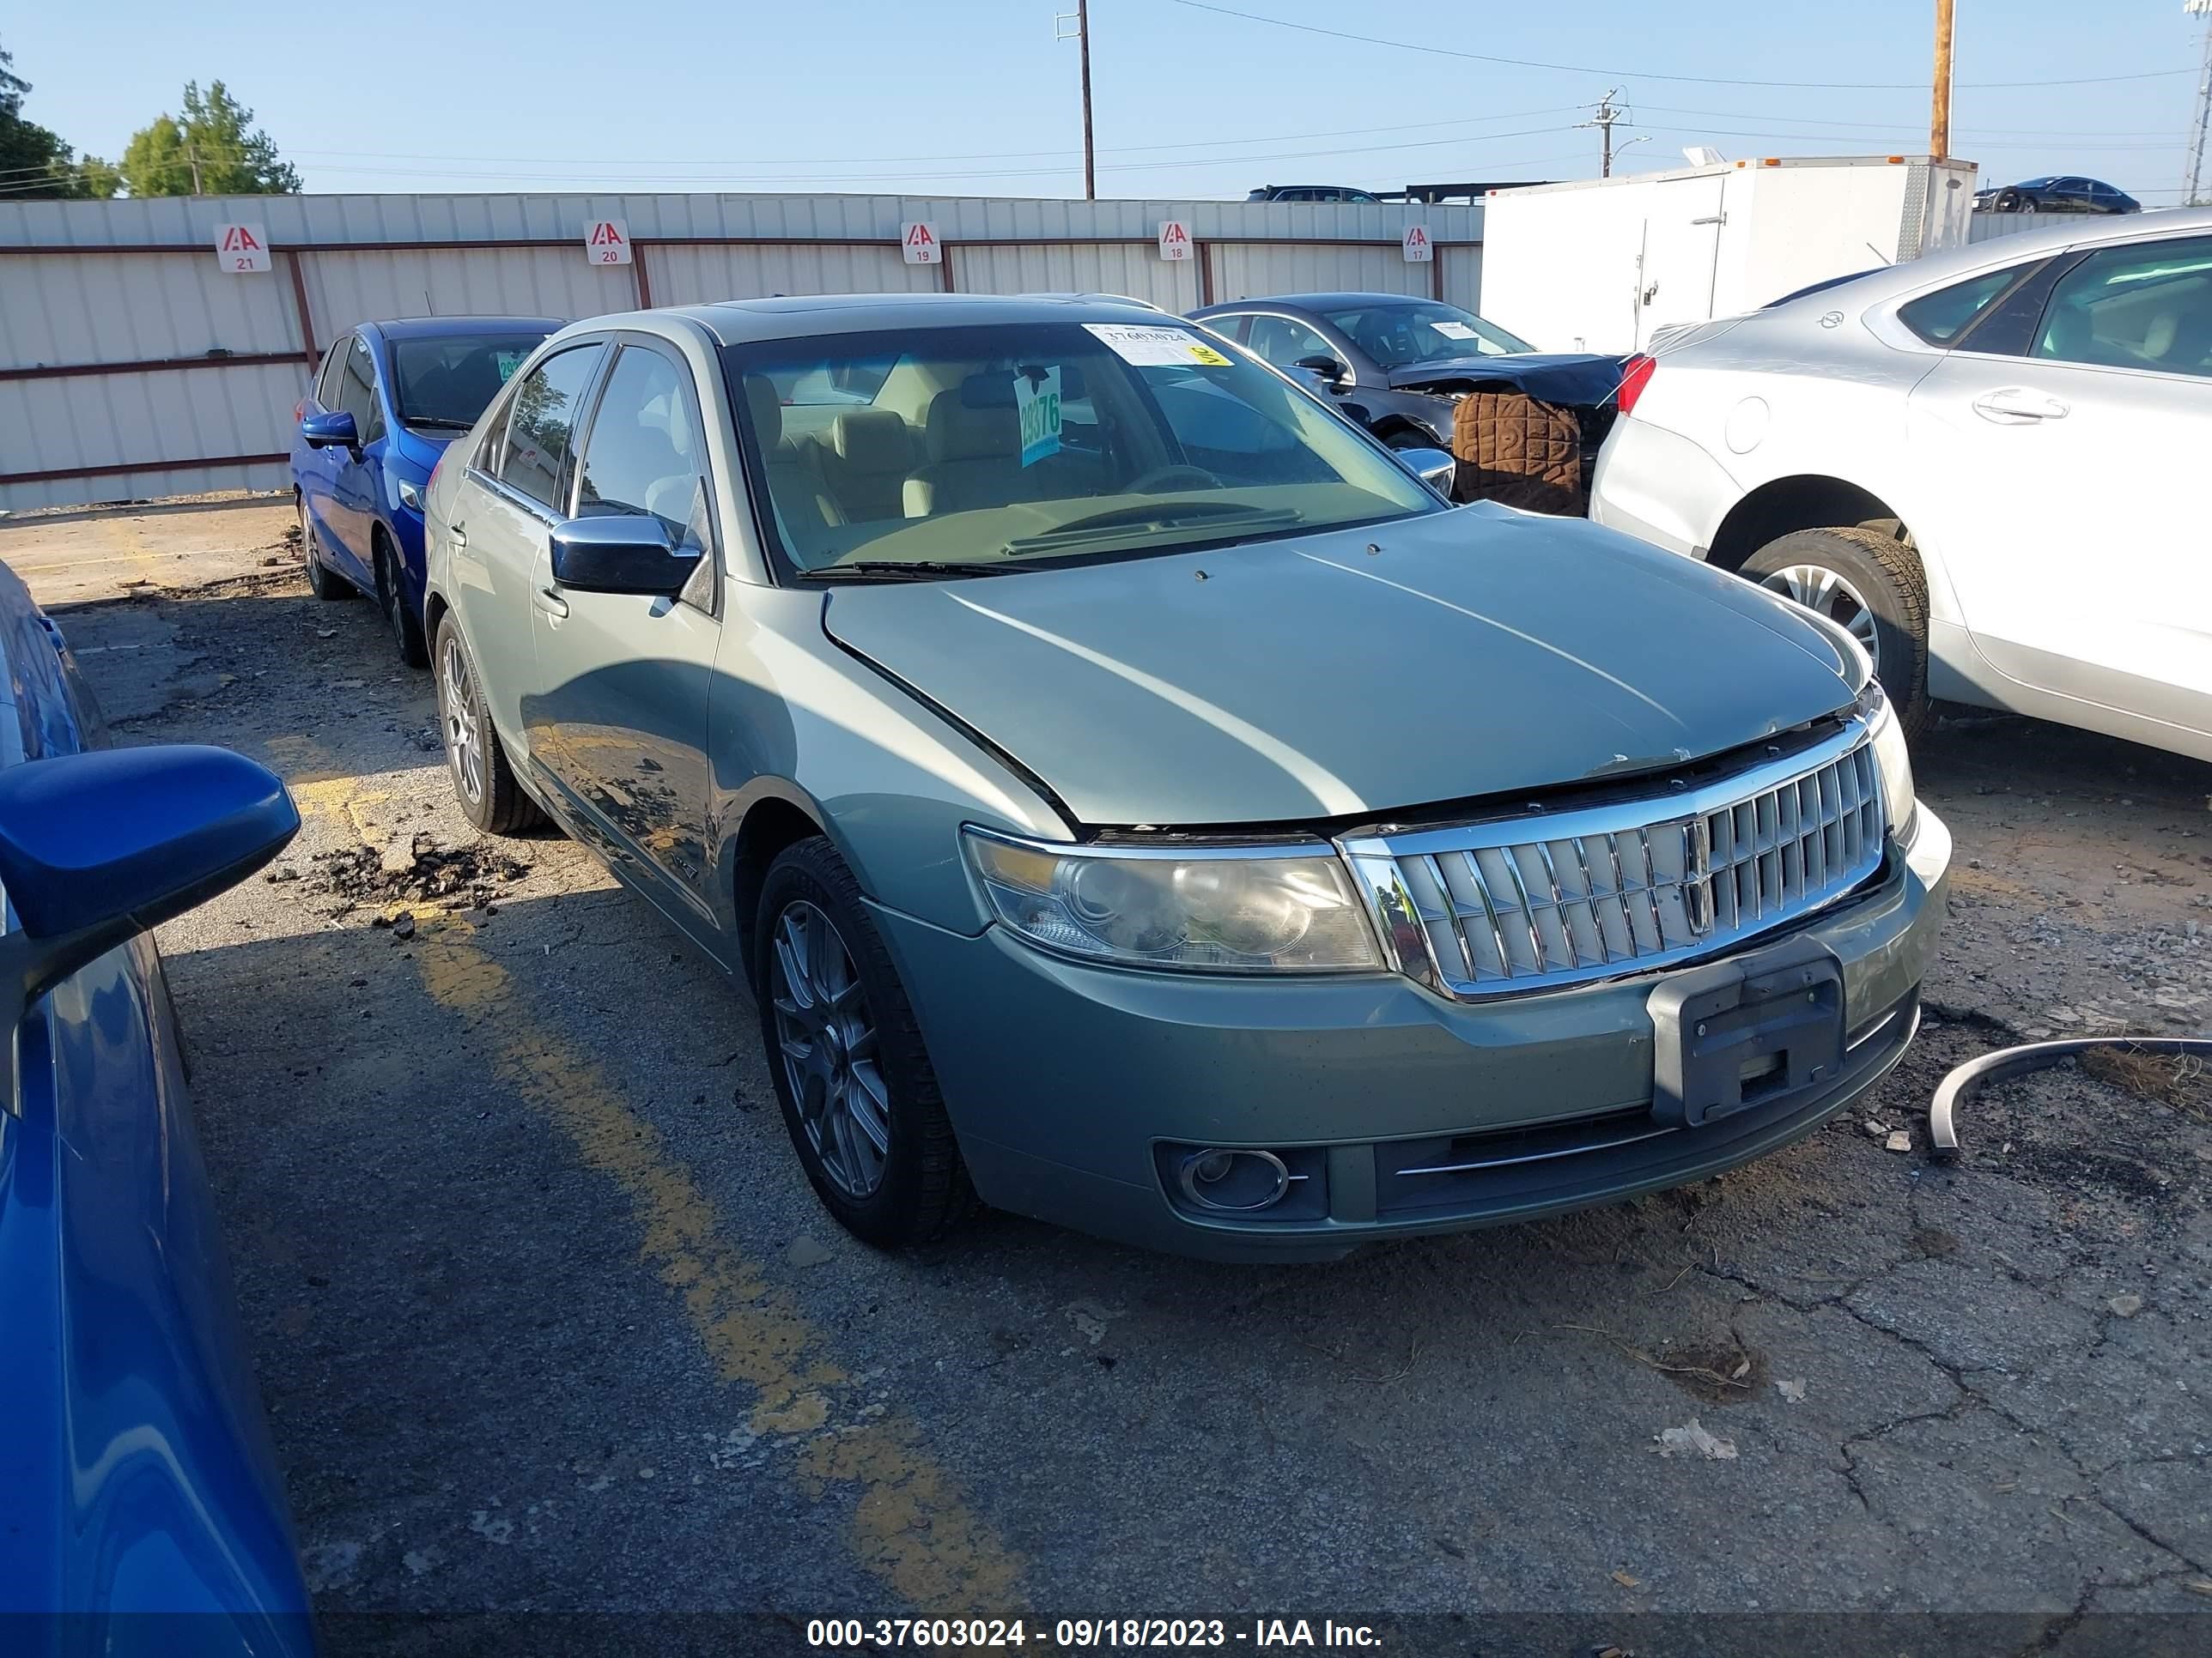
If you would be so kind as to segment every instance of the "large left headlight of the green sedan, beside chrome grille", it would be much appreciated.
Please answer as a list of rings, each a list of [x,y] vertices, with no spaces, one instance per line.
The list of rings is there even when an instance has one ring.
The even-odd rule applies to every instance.
[[[1380,968],[1334,851],[1066,847],[964,831],[991,911],[1048,951],[1186,973]]]

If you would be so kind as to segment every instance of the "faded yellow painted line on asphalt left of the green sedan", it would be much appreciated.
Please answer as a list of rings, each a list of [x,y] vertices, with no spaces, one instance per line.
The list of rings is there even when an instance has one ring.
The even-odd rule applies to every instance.
[[[856,1492],[854,1554],[916,1609],[1020,1612],[1018,1556],[922,1448],[918,1424],[860,1415],[827,1335],[728,1242],[712,1200],[661,1132],[622,1103],[597,1061],[531,1017],[524,988],[473,933],[453,917],[418,935],[422,986],[489,1039],[500,1081],[630,1200],[641,1265],[684,1298],[717,1375],[752,1388],[752,1430],[807,1439],[799,1470],[816,1497]]]

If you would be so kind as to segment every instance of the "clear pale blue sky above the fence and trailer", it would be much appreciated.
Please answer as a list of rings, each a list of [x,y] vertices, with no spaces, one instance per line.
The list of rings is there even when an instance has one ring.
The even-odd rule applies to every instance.
[[[1075,0],[383,0],[15,7],[24,113],[115,157],[226,80],[310,190],[896,190],[1082,195]],[[1577,108],[1608,86],[1648,135],[1624,168],[1927,148],[1933,0],[1385,7],[1221,0],[1528,69],[1093,0],[1099,195],[1597,172]],[[495,15],[493,15],[495,13]],[[1953,153],[1984,183],[2088,172],[2179,197],[2201,35],[2181,0],[1958,0]],[[1975,86],[2141,75],[2070,86]],[[1661,80],[1703,77],[1699,80]],[[1905,82],[1812,88],[1714,82]]]

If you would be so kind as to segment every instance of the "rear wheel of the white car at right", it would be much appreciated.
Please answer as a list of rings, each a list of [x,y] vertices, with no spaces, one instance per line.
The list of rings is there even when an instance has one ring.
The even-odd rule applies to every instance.
[[[1840,623],[1867,648],[1907,736],[1929,716],[1929,579],[1913,550],[1874,528],[1792,531],[1739,570]]]

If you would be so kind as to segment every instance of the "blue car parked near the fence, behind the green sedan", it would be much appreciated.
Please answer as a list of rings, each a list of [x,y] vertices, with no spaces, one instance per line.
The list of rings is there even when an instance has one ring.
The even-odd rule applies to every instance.
[[[411,668],[429,665],[422,491],[445,447],[557,327],[549,316],[363,323],[332,340],[294,411],[292,504],[307,586],[321,599],[376,599]]]

